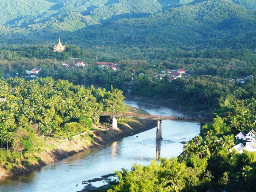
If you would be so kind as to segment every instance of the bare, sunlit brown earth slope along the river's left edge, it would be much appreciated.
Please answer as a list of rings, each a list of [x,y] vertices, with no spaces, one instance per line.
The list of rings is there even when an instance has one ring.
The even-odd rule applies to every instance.
[[[90,132],[90,134],[93,134],[93,140],[91,139],[92,135],[91,137],[89,135],[80,135],[79,137],[74,137],[73,140],[47,137],[45,138],[45,143],[48,147],[40,153],[33,153],[33,155],[39,159],[38,163],[34,163],[27,167],[20,164],[18,167],[14,167],[11,171],[7,171],[0,166],[0,173],[5,172],[5,174],[1,175],[1,177],[32,171],[86,149],[99,145],[105,145],[107,143],[122,139],[123,137],[144,132],[154,127],[156,127],[156,121],[154,120],[134,119],[128,121],[127,123],[118,124],[117,129],[108,128],[104,131],[94,130]]]

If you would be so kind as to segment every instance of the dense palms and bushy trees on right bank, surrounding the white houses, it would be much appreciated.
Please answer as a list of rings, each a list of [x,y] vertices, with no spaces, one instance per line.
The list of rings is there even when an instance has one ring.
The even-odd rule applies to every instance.
[[[130,172],[116,171],[118,180],[108,192],[114,191],[202,191],[213,187],[217,191],[252,190],[256,185],[256,153],[239,154],[234,146],[234,134],[255,128],[256,100],[238,101],[228,97],[215,111],[213,124],[186,142],[178,158],[162,158],[149,166],[133,165]]]

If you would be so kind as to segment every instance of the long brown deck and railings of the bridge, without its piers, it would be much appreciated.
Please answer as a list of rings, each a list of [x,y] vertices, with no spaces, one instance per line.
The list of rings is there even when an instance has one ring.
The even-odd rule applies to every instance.
[[[100,116],[108,117],[128,117],[136,119],[155,119],[155,120],[170,120],[170,121],[186,121],[186,122],[198,122],[198,123],[212,123],[212,119],[206,118],[191,118],[191,117],[177,117],[177,116],[163,116],[163,115],[151,115],[151,114],[139,114],[139,113],[118,113],[102,111]]]

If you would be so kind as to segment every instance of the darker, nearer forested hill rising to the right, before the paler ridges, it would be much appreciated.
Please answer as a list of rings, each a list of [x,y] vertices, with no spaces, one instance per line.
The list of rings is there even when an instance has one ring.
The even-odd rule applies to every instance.
[[[118,30],[116,30],[118,29]],[[73,33],[70,41],[85,39],[88,46],[136,45],[138,47],[229,47],[239,39],[241,46],[255,48],[255,38],[245,38],[256,30],[255,12],[228,0],[209,0],[168,9],[145,18],[121,19],[117,22],[85,28]],[[242,42],[241,42],[242,41]],[[250,42],[248,42],[250,41]],[[222,43],[222,44],[220,44]],[[249,43],[249,44],[248,44]]]

